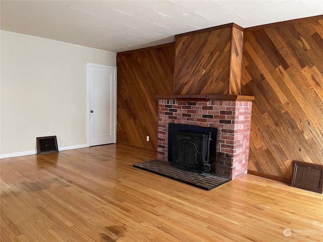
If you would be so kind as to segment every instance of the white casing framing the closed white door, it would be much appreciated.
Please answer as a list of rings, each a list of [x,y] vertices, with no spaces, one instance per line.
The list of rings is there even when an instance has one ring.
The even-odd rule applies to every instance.
[[[87,147],[90,147],[90,97],[89,97],[89,82],[90,82],[90,67],[109,68],[115,70],[115,139],[117,143],[117,67],[105,66],[93,63],[86,63],[86,128],[87,128]]]

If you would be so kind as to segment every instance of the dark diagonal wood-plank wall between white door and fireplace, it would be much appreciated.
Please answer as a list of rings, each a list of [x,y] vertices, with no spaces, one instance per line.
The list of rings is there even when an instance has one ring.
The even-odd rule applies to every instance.
[[[157,149],[156,95],[174,94],[174,58],[174,43],[118,53],[117,143]]]

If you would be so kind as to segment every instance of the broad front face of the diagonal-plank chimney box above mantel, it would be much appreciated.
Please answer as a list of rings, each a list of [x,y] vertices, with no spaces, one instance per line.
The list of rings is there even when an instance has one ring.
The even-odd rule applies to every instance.
[[[176,37],[175,94],[228,94],[232,27]]]

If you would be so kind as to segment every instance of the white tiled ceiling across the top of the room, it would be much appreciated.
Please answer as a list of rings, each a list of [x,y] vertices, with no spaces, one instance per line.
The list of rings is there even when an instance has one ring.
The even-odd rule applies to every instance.
[[[174,35],[323,14],[323,0],[0,1],[1,30],[121,52]]]

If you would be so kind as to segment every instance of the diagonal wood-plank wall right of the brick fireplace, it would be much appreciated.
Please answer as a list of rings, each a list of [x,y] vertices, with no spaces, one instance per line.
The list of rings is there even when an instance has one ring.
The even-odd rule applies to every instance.
[[[242,66],[249,169],[290,179],[293,160],[323,164],[323,17],[245,30]]]

